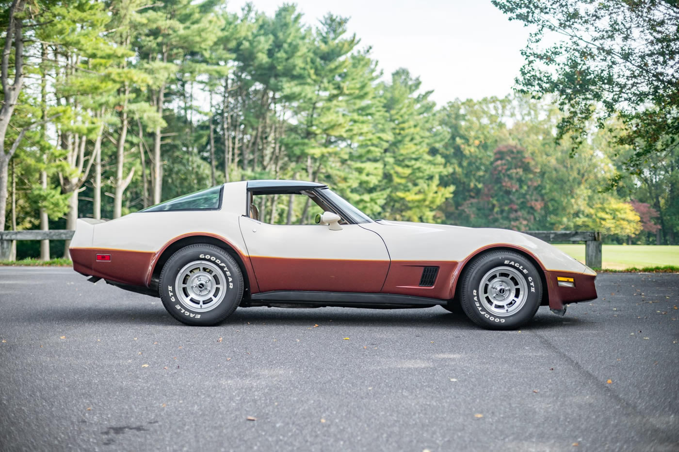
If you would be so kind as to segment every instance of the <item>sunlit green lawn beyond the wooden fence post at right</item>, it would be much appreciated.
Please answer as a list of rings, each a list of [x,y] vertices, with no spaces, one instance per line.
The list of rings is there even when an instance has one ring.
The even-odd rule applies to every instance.
[[[567,255],[585,262],[585,245],[555,245]],[[665,245],[603,245],[602,267],[623,270],[629,267],[679,266],[679,246]]]

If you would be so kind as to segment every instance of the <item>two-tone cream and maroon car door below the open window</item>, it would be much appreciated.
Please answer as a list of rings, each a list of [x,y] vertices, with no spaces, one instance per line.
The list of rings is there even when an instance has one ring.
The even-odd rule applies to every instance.
[[[378,293],[389,269],[382,238],[360,225],[272,225],[240,217],[261,292],[318,290]]]

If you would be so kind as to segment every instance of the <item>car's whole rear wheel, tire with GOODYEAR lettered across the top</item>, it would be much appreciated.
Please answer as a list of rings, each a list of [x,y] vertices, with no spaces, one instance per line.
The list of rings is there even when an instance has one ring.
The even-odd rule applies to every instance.
[[[243,296],[235,259],[214,245],[189,245],[175,252],[160,272],[165,309],[187,325],[214,325],[230,316]]]

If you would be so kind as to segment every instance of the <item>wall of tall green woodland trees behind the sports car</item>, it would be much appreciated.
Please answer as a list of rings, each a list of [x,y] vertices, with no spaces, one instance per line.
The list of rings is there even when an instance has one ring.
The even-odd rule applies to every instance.
[[[497,3],[519,8],[534,2]],[[545,3],[544,12],[560,14],[557,4]],[[94,214],[98,191],[90,163],[100,143],[104,219],[114,215],[114,198],[122,200],[115,204],[122,214],[152,204],[158,146],[163,200],[227,178],[297,178],[328,183],[373,218],[595,229],[618,242],[671,243],[679,233],[679,158],[671,130],[630,140],[642,128],[648,132],[650,123],[619,108],[624,99],[610,103],[615,114],[590,109],[601,81],[592,71],[606,68],[597,59],[600,50],[589,69],[590,60],[576,65],[589,71],[576,83],[581,96],[567,90],[574,82],[563,52],[553,55],[554,72],[536,72],[547,64],[537,59],[536,41],[527,50],[524,90],[555,97],[456,99],[437,106],[407,69],[382,77],[370,49],[348,33],[348,18],[333,14],[308,26],[294,5],[272,16],[251,4],[232,14],[221,0],[49,6],[45,23],[28,32],[31,77],[5,140],[51,117],[26,133],[16,154],[19,228],[37,227],[39,208],[48,210],[50,227],[66,227],[73,191],[79,193],[75,216]],[[526,20],[538,18],[528,14]],[[615,71],[626,67],[616,64]],[[646,113],[663,124],[667,110],[654,108]],[[571,138],[579,143],[575,152]],[[660,151],[643,154],[648,145]],[[630,162],[641,169],[602,193],[610,179],[629,172]],[[631,199],[658,212],[644,217],[650,229],[639,233],[640,220],[626,204]],[[304,200],[293,200],[291,217],[284,218],[289,202],[271,197],[261,214],[285,224],[314,213]]]

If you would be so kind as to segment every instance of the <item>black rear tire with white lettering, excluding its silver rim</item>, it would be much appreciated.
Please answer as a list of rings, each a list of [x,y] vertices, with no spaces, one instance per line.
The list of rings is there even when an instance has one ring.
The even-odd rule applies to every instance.
[[[225,295],[221,303],[209,311],[195,311],[185,306],[177,295],[179,288],[175,286],[177,274],[188,263],[205,261],[216,265],[222,272]],[[243,280],[238,263],[227,252],[212,245],[191,245],[175,252],[165,263],[158,292],[168,312],[180,322],[191,325],[212,325],[229,316],[242,298]]]

